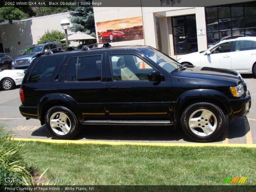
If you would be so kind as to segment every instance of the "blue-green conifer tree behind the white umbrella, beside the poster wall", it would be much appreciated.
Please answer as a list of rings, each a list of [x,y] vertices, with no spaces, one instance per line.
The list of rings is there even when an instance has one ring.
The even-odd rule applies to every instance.
[[[69,30],[73,32],[81,31],[85,34],[96,37],[93,8],[72,7],[70,10],[70,22],[73,26],[70,27]]]

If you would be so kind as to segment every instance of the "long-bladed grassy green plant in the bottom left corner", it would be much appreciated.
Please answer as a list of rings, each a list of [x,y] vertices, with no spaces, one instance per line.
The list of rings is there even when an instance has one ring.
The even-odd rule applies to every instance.
[[[6,183],[5,178],[31,179],[29,167],[25,163],[22,154],[24,153],[22,142],[13,142],[11,134],[0,126],[0,186],[20,185],[14,182]],[[28,183],[23,183],[28,184]]]

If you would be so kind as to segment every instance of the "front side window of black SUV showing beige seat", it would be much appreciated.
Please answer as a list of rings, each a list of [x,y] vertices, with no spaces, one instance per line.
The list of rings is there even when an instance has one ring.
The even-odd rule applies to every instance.
[[[156,71],[140,57],[132,54],[111,55],[113,79],[116,81],[148,80],[148,73]]]

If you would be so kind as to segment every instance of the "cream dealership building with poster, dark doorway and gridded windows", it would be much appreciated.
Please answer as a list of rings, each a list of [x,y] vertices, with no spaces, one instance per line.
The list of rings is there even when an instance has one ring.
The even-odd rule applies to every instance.
[[[154,7],[144,6],[143,0],[132,7],[94,7],[98,41],[150,45],[179,56],[204,51],[226,36],[256,36],[256,1],[156,2]]]

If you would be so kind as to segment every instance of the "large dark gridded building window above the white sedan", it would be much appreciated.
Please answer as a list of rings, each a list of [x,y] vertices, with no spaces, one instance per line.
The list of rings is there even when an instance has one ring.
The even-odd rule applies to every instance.
[[[224,39],[256,36],[256,1],[205,8],[208,47]]]

